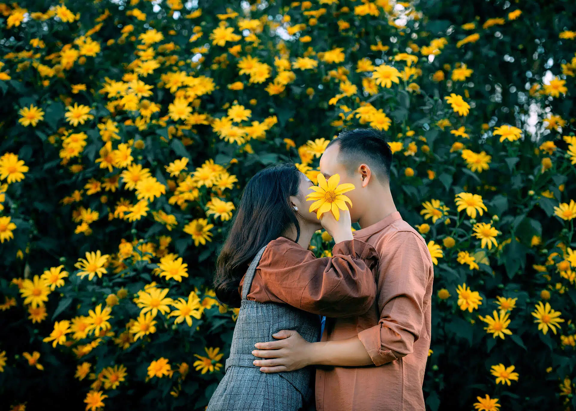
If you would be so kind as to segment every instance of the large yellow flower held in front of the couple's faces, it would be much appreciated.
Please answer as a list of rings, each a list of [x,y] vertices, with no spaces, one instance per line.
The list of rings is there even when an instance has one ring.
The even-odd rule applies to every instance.
[[[306,195],[306,201],[314,201],[309,211],[317,210],[316,216],[318,218],[320,218],[322,214],[332,211],[336,221],[338,221],[340,219],[339,209],[348,210],[346,202],[352,206],[352,201],[350,201],[350,198],[346,197],[344,193],[354,190],[356,187],[351,183],[338,185],[340,182],[340,176],[338,174],[331,176],[328,181],[326,181],[323,174],[318,174],[317,178],[318,186],[310,187],[310,190],[314,190],[315,193]]]

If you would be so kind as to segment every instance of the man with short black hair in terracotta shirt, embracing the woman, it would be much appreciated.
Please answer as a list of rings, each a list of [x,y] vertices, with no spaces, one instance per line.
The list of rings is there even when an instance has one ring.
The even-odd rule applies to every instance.
[[[327,318],[319,343],[295,331],[259,343],[254,364],[263,372],[291,371],[318,364],[317,411],[425,410],[422,384],[430,348],[434,268],[426,242],[402,220],[390,191],[392,151],[376,129],[345,130],[320,158],[326,178],[353,183],[346,193],[354,237],[379,255],[377,298],[358,317]],[[270,350],[270,351],[268,351]]]

